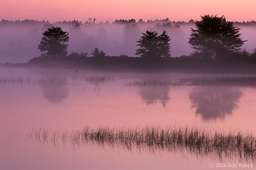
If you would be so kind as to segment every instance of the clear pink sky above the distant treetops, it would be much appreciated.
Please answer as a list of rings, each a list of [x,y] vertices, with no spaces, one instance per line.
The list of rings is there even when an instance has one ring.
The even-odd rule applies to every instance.
[[[256,0],[1,0],[0,20],[116,19],[188,21],[200,15],[225,15],[229,21],[256,20]]]

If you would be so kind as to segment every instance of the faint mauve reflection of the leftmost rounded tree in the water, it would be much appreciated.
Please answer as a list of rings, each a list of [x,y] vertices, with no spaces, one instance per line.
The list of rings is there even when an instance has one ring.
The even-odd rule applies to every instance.
[[[44,98],[51,103],[59,103],[68,97],[69,89],[67,77],[62,74],[44,74],[41,81],[41,87]]]

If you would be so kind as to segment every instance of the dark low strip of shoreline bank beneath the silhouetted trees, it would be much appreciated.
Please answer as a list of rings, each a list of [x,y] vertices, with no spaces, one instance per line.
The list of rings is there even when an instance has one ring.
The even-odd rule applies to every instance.
[[[184,73],[256,73],[256,65],[246,62],[223,62],[191,58],[34,58],[24,63],[5,63],[2,67],[90,69],[116,72],[184,72]]]

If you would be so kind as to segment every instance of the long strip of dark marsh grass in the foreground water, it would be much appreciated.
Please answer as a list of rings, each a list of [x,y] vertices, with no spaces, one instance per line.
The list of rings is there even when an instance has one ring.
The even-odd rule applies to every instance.
[[[46,132],[44,132],[46,131]],[[34,134],[35,132],[35,134]],[[239,157],[241,159],[255,159],[256,138],[252,134],[239,132],[225,133],[222,131],[209,131],[207,128],[189,126],[145,126],[145,127],[108,127],[88,126],[79,130],[73,130],[68,134],[67,130],[59,134],[54,131],[49,135],[48,129],[34,130],[37,140],[47,140],[57,143],[59,136],[62,142],[70,142],[74,148],[82,145],[101,144],[113,148],[125,148],[144,150],[148,148],[152,152],[156,150],[181,151],[187,150],[196,155],[217,155],[221,157]],[[46,134],[46,135],[45,135]],[[31,139],[33,139],[31,137]]]

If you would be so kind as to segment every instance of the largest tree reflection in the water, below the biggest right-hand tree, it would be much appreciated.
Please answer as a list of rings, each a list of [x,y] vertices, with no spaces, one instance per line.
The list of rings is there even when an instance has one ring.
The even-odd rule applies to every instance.
[[[242,92],[239,88],[230,86],[198,86],[189,93],[192,108],[201,114],[204,120],[224,119],[226,114],[232,114],[239,108]]]

